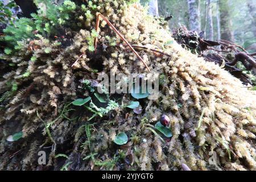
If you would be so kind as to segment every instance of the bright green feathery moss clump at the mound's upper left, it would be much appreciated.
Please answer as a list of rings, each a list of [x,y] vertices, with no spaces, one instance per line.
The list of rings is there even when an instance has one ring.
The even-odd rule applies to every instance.
[[[10,55],[19,51],[24,46],[24,42],[36,39],[36,35],[49,38],[57,35],[63,26],[75,13],[77,6],[72,1],[64,1],[63,5],[53,5],[50,1],[42,1],[46,6],[38,6],[37,14],[31,14],[33,19],[20,18],[14,25],[9,25],[4,30],[7,47],[5,53]],[[37,34],[34,34],[37,32]]]

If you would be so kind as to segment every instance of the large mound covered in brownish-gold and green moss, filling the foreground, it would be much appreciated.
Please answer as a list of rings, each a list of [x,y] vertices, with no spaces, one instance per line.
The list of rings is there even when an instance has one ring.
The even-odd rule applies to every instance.
[[[0,169],[180,170],[183,163],[192,170],[256,169],[255,92],[181,48],[162,27],[164,22],[148,16],[138,3],[81,2],[47,4],[47,11],[34,20],[7,28],[9,47],[2,55],[6,62],[0,80]],[[159,97],[140,100],[141,114],[124,107],[134,100],[130,94],[110,94],[105,105],[98,104],[100,114],[93,113],[96,106],[89,102],[87,108],[71,104],[93,98],[97,75],[109,75],[110,69],[155,76],[104,22],[93,52],[97,12],[131,44],[147,47],[137,51],[160,73]],[[170,141],[152,132],[162,114],[171,121]],[[7,141],[20,131],[22,138]],[[113,142],[120,132],[129,139],[123,146]],[[47,153],[45,166],[38,164],[39,151]]]

